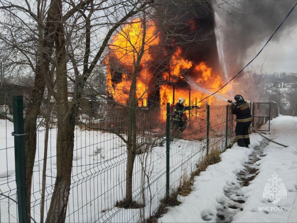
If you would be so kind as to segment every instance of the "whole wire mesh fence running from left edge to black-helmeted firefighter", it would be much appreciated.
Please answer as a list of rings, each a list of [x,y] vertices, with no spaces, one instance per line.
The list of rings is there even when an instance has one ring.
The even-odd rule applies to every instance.
[[[13,126],[7,119],[1,121],[7,128]],[[129,111],[112,109],[79,115],[74,134],[66,222],[144,222],[158,209],[166,195],[166,110],[139,108],[135,122],[137,137],[132,175],[135,208],[125,208],[122,201],[125,200],[127,186]],[[25,123],[30,122],[25,120]],[[26,127],[25,131],[30,129]],[[6,136],[9,131],[5,130]],[[37,134],[37,150],[31,184],[31,216],[40,222],[42,197],[45,221],[56,181],[57,155],[60,155],[56,152],[57,117],[38,117],[34,132]],[[210,106],[209,116],[205,105],[193,109],[181,136],[170,141],[170,193],[175,192],[181,180],[195,170],[196,164],[207,152],[207,144],[211,151],[214,148],[223,150],[234,142],[233,115],[226,106]],[[5,148],[0,151],[10,154],[13,141],[10,144],[7,136],[6,142],[7,145],[3,145]],[[14,163],[10,163],[14,154],[10,156],[5,158],[6,173],[15,168]],[[8,175],[0,178],[3,182],[1,193],[16,199],[15,179]],[[44,184],[42,177],[45,177]],[[4,195],[0,196],[1,222],[17,222],[17,206]]]

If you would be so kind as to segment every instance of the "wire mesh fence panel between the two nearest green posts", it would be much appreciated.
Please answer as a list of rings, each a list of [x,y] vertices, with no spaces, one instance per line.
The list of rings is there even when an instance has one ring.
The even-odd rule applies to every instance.
[[[138,135],[133,200],[145,204],[143,213],[135,208],[117,207],[126,194],[127,142],[124,140],[128,134],[127,110],[113,109],[91,117],[83,113],[78,117],[66,222],[137,222],[157,209],[165,196],[165,114],[161,109],[139,109],[136,112]],[[40,221],[46,117],[38,117],[37,124],[31,214]],[[56,180],[55,116],[50,117],[48,125],[44,216]]]

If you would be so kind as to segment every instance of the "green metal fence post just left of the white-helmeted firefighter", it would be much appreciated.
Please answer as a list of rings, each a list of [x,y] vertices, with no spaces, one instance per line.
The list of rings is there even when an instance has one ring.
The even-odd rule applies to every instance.
[[[166,113],[166,195],[169,195],[169,150],[170,150],[170,103],[167,103]]]

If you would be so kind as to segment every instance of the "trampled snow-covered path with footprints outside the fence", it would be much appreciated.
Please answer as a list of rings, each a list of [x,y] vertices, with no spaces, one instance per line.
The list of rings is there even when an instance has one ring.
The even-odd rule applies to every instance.
[[[221,154],[221,162],[201,172],[190,195],[179,197],[182,204],[169,207],[159,222],[297,222],[296,133],[297,118],[279,115],[268,137],[287,148],[252,134],[249,149],[233,145]],[[263,196],[267,192],[279,196],[276,203]]]

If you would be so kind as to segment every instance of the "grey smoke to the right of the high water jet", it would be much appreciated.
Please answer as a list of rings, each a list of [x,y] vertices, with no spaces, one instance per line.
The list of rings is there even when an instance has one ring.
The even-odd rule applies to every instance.
[[[224,52],[230,76],[234,76],[247,61],[247,52],[256,55],[279,24],[284,20],[296,0],[239,0],[233,7],[227,4],[214,7],[223,22]],[[230,14],[228,14],[226,11]],[[287,18],[271,42],[281,41],[280,37],[296,26],[297,8]],[[217,26],[220,25],[217,22]]]

